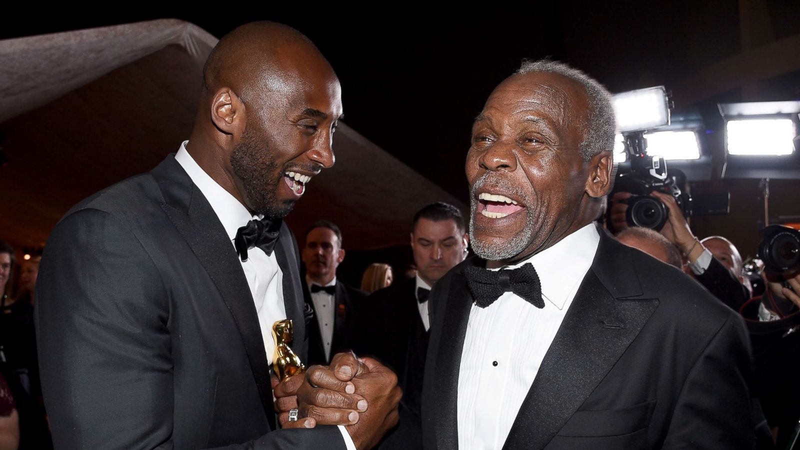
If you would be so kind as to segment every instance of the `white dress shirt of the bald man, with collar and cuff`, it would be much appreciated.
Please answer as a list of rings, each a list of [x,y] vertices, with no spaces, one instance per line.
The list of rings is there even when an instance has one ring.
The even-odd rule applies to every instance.
[[[192,179],[192,183],[198,187],[202,195],[206,197],[214,214],[217,215],[222,227],[230,238],[230,245],[234,245],[234,238],[239,227],[244,227],[252,219],[262,219],[250,214],[247,208],[242,205],[230,192],[220,186],[212,179],[202,167],[194,161],[189,152],[186,151],[186,143],[183,141],[175,159]],[[272,365],[275,353],[275,341],[272,338],[272,325],[282,319],[286,319],[286,305],[283,303],[283,273],[278,265],[275,252],[267,256],[258,247],[253,247],[247,251],[247,260],[242,261],[242,270],[245,272],[247,285],[253,295],[255,311],[258,314],[258,325],[261,327],[261,336],[266,350],[266,360]],[[345,441],[347,450],[355,450],[355,444],[350,438],[346,428],[339,426],[342,438]]]

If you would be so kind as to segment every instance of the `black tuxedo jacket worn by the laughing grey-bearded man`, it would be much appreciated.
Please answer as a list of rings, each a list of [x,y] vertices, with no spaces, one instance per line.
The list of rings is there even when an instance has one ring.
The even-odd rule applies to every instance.
[[[742,319],[681,271],[600,234],[503,448],[753,448]],[[425,448],[458,448],[473,303],[463,271],[483,263],[468,259],[431,292]]]

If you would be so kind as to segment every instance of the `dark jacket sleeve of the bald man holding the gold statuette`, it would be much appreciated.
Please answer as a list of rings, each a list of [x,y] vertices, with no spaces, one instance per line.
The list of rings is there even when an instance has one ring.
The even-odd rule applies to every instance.
[[[83,209],[53,231],[36,321],[56,448],[172,448],[170,294],[122,220]],[[198,431],[204,432],[204,431]],[[280,430],[230,448],[345,448],[336,427]]]

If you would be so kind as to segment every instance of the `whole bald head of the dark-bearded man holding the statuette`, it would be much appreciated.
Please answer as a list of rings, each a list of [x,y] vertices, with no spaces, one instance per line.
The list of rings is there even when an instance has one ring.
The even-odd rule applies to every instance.
[[[202,87],[189,154],[250,211],[288,214],[334,165],[342,89],[333,68],[298,30],[253,22],[214,46]]]

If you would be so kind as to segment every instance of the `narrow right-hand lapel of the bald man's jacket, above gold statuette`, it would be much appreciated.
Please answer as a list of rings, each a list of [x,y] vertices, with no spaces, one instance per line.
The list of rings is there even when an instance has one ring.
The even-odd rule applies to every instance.
[[[308,360],[308,349],[303,343],[306,341],[306,318],[303,316],[302,285],[300,284],[300,265],[297,256],[297,244],[294,235],[283,223],[278,243],[275,244],[275,257],[283,272],[283,304],[286,307],[286,319],[291,319],[294,328],[294,340],[291,348],[300,357]]]

